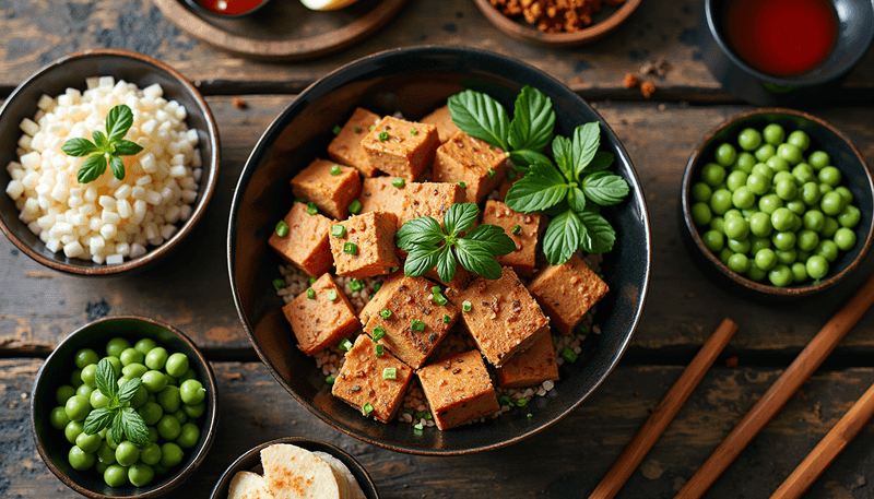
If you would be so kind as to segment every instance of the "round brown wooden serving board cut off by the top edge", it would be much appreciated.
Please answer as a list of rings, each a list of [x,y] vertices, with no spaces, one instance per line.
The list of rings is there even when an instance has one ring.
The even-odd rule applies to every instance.
[[[376,33],[406,0],[361,0],[338,11],[316,12],[297,0],[273,0],[260,11],[221,19],[184,0],[153,0],[188,35],[237,56],[295,61],[341,50]]]

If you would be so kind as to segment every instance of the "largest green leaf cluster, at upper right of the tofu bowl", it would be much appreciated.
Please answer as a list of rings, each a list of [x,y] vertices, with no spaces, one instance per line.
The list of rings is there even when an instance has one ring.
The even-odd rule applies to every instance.
[[[599,214],[600,206],[622,202],[629,188],[625,179],[607,171],[614,157],[598,150],[598,122],[577,127],[572,138],[553,136],[552,100],[530,86],[517,96],[512,120],[495,99],[472,90],[449,97],[448,106],[458,128],[509,151],[513,167],[525,173],[507,192],[506,203],[517,212],[545,211],[552,216],[543,237],[550,263],[564,263],[578,249],[588,253],[613,249],[616,231]],[[541,153],[551,141],[555,164]]]

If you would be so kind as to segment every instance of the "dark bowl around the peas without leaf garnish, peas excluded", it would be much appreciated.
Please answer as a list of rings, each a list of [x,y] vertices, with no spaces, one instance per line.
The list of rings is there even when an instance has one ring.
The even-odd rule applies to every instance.
[[[794,130],[803,130],[811,138],[808,152],[825,151],[828,153],[831,164],[842,174],[841,185],[850,189],[853,194],[853,204],[862,213],[862,219],[854,228],[855,246],[850,251],[841,251],[838,259],[829,265],[828,274],[816,284],[810,282],[789,287],[776,287],[769,285],[767,281],[756,283],[746,278],[731,271],[704,246],[698,229],[692,222],[690,210],[694,204],[692,186],[700,179],[700,169],[704,165],[713,161],[717,147],[723,142],[732,142],[736,145],[737,134],[741,130],[752,127],[761,131],[768,123],[781,124],[787,135]],[[843,133],[822,119],[805,112],[779,108],[759,109],[735,116],[717,127],[707,134],[689,156],[683,174],[680,198],[681,233],[695,261],[708,275],[751,298],[788,300],[828,289],[859,268],[871,248],[874,233],[874,218],[872,218],[874,215],[874,183],[865,161]]]

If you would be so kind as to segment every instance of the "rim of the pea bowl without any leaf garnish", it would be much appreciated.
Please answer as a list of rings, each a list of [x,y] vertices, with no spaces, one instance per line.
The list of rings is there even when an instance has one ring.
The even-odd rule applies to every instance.
[[[795,297],[800,298],[803,296],[810,296],[825,289],[828,289],[835,286],[838,282],[840,282],[845,276],[850,274],[853,270],[855,270],[864,260],[865,256],[867,254],[869,249],[871,249],[872,239],[874,239],[874,219],[869,221],[867,227],[867,236],[865,237],[864,243],[862,246],[862,250],[859,254],[843,269],[841,272],[832,275],[831,277],[820,281],[819,284],[815,284],[812,286],[802,286],[802,287],[777,287],[777,286],[768,286],[765,284],[756,283],[728,268],[724,263],[722,263],[719,258],[717,258],[707,247],[704,246],[704,240],[701,239],[700,234],[698,234],[697,227],[692,222],[692,202],[690,202],[690,191],[692,186],[694,183],[693,179],[693,170],[697,170],[696,166],[701,161],[701,154],[704,153],[705,147],[707,144],[711,142],[722,130],[725,128],[741,121],[742,119],[749,118],[753,116],[758,115],[789,115],[799,118],[803,118],[814,123],[829,130],[830,132],[835,133],[840,140],[842,140],[853,152],[855,158],[862,165],[862,169],[865,174],[865,180],[867,183],[869,192],[874,197],[874,179],[871,177],[871,170],[867,167],[867,163],[865,163],[865,158],[859,152],[859,150],[850,142],[850,139],[847,138],[840,130],[829,124],[827,121],[817,118],[813,115],[810,115],[804,111],[799,111],[795,109],[782,108],[782,107],[764,107],[758,108],[749,111],[740,112],[734,115],[720,124],[718,124],[714,129],[710,130],[704,139],[698,143],[698,145],[692,151],[688,161],[686,162],[686,167],[683,171],[683,182],[681,183],[681,210],[683,211],[683,225],[687,231],[687,235],[692,237],[695,247],[698,249],[698,252],[704,256],[707,261],[713,265],[720,274],[723,276],[741,284],[742,286],[757,292],[763,295],[768,296],[778,296],[778,297]],[[857,242],[858,243],[858,242]]]

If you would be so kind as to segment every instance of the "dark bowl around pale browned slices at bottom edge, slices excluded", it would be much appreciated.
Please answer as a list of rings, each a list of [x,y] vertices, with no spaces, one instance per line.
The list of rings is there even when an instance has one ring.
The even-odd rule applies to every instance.
[[[324,452],[333,455],[343,464],[345,464],[349,471],[355,476],[355,480],[358,482],[358,486],[362,488],[362,491],[364,491],[364,497],[367,499],[379,499],[379,492],[376,490],[376,484],[374,484],[374,480],[370,478],[367,470],[362,466],[362,464],[358,463],[355,458],[339,447],[331,445],[328,442],[302,437],[286,437],[271,440],[252,448],[245,454],[240,455],[231,464],[231,466],[227,467],[225,473],[222,474],[222,477],[218,478],[218,483],[215,484],[215,488],[212,489],[212,495],[210,498],[227,499],[227,489],[231,486],[231,480],[234,479],[234,475],[236,475],[238,472],[262,473],[261,450],[277,443],[291,443],[292,445],[297,445],[310,452]]]

